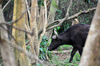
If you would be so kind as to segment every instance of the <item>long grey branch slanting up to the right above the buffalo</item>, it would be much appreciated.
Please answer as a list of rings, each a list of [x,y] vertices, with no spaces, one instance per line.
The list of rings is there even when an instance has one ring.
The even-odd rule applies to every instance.
[[[47,30],[46,30],[46,31],[51,30],[51,29],[53,29],[53,28],[55,28],[55,27],[59,27],[60,25],[54,26],[54,27],[51,27],[51,26],[52,26],[52,25],[55,25],[55,24],[57,24],[57,23],[59,24],[62,20],[63,20],[63,22],[64,22],[65,20],[73,19],[73,18],[75,18],[75,17],[77,17],[77,16],[79,16],[79,15],[86,14],[86,13],[92,12],[92,11],[94,11],[94,10],[96,10],[96,7],[90,8],[90,9],[85,10],[85,11],[78,12],[78,13],[76,13],[76,14],[74,14],[74,15],[72,15],[72,16],[66,18],[66,19],[63,18],[64,20],[63,20],[63,19],[55,20],[55,21],[51,22],[51,23],[47,26]],[[41,28],[41,29],[39,30],[38,35],[40,35],[40,34],[42,33],[42,31],[43,31],[43,28]]]

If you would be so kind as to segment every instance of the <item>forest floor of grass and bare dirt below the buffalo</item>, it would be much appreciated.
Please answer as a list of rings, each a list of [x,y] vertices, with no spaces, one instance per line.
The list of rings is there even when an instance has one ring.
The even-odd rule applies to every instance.
[[[80,61],[79,53],[77,52],[73,58],[73,62],[69,63],[70,53],[72,47],[69,49],[62,49],[61,51],[52,51],[52,59],[49,61],[48,66],[78,66]]]

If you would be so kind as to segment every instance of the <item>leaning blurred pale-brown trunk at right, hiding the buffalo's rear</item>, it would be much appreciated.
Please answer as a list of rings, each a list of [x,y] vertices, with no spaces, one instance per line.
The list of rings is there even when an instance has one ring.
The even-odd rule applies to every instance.
[[[100,0],[79,66],[100,66]]]

